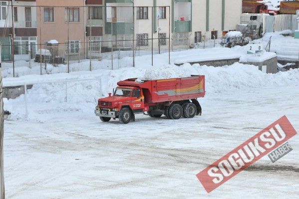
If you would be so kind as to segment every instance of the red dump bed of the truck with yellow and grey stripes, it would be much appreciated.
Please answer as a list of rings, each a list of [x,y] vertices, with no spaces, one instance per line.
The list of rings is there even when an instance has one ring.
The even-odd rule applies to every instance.
[[[192,75],[186,78],[144,80],[128,79],[117,83],[119,86],[142,88],[146,103],[181,101],[205,96],[205,76]]]

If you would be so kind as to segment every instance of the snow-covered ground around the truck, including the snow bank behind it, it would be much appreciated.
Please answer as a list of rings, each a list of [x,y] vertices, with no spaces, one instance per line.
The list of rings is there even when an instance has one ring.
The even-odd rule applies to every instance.
[[[167,57],[161,55],[161,60]],[[36,84],[24,96],[4,100],[11,112],[4,124],[7,199],[97,198],[296,198],[299,195],[299,137],[294,150],[272,164],[264,157],[207,194],[196,174],[269,124],[287,115],[299,130],[299,69],[265,74],[236,63],[175,66],[144,60],[143,67],[70,74],[4,78],[4,85],[28,81],[101,78],[78,82],[68,102],[61,83]],[[94,115],[100,90],[116,82],[206,75],[203,115],[167,120],[137,115],[136,122],[100,122]],[[71,88],[73,89],[73,88]]]

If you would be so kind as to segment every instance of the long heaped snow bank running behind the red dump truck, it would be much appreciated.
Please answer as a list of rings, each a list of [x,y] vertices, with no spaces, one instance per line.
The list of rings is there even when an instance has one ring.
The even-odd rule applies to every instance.
[[[56,81],[58,79],[77,79],[78,81],[34,84],[28,89],[27,104],[29,106],[30,120],[46,118],[47,113],[80,111],[93,109],[97,99],[108,96],[117,82],[127,78],[136,77],[141,79],[164,79],[175,77],[188,77],[190,75],[206,76],[207,95],[217,93],[235,92],[236,89],[258,88],[268,86],[299,85],[299,69],[277,74],[266,74],[257,69],[257,66],[235,63],[231,66],[213,67],[191,65],[186,63],[182,66],[163,65],[151,68],[122,68],[118,70],[96,70],[91,72],[72,72],[51,75],[28,75],[20,77],[19,82],[34,80],[38,82]],[[98,78],[100,80],[80,81]],[[8,81],[7,81],[8,80]],[[6,78],[4,85],[9,84]],[[102,95],[101,95],[102,92]],[[16,99],[4,99],[4,110],[11,112],[11,119],[22,119],[25,114],[24,95]],[[92,112],[92,110],[90,110]],[[42,115],[42,117],[41,117]]]

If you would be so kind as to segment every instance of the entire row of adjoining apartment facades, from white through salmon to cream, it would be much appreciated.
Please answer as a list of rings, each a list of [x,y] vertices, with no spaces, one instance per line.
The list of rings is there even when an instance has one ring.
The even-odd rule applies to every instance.
[[[2,44],[11,42],[8,5],[0,1],[7,10]],[[32,58],[52,40],[70,59],[83,59],[112,49],[175,50],[221,38],[240,23],[242,0],[17,0],[13,12],[15,44],[28,45],[16,47],[16,59]],[[10,47],[2,47],[2,60],[10,55]]]

